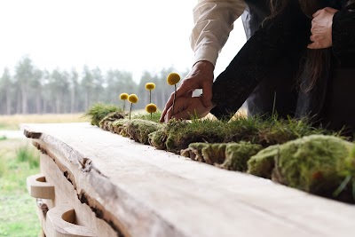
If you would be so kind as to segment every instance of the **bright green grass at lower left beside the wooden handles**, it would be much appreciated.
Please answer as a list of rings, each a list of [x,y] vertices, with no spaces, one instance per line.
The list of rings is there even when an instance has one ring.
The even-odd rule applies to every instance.
[[[27,140],[0,141],[0,236],[36,237],[41,227],[36,199],[29,196],[26,178],[39,172],[38,152]]]

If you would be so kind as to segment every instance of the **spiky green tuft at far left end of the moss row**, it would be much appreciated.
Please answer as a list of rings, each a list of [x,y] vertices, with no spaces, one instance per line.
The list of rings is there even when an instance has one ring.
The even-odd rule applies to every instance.
[[[93,104],[89,110],[85,113],[84,116],[89,117],[91,119],[91,125],[99,126],[99,122],[106,117],[106,115],[117,112],[121,113],[122,108],[117,107],[111,104],[105,104],[102,102],[98,102]]]

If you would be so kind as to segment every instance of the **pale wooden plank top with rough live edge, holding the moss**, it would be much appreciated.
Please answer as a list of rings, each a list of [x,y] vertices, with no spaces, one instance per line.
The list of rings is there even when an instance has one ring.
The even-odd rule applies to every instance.
[[[88,123],[24,124],[131,236],[353,236],[354,206],[193,162]]]

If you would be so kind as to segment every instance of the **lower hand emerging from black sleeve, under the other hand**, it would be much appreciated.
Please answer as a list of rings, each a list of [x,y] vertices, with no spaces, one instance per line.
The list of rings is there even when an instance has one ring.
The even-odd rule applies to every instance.
[[[163,121],[168,122],[170,118],[184,120],[202,118],[208,115],[213,107],[213,105],[205,107],[201,97],[180,97],[175,100],[174,113],[172,107],[169,107]]]

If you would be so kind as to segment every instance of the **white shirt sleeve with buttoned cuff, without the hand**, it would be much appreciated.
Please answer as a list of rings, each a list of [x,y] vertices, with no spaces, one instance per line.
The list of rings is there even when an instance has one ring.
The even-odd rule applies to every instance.
[[[233,22],[244,12],[242,0],[199,0],[193,8],[194,27],[190,36],[194,62],[208,60],[216,66],[233,29]]]

